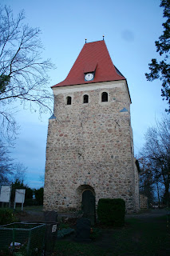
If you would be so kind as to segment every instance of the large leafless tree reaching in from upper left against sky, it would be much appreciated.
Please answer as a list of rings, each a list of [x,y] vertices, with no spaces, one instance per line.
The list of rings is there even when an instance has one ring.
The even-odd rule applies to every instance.
[[[42,114],[51,111],[53,102],[47,72],[54,66],[42,60],[41,31],[25,25],[24,19],[23,10],[14,18],[10,7],[0,6],[0,132],[9,139],[18,130],[12,103]]]

